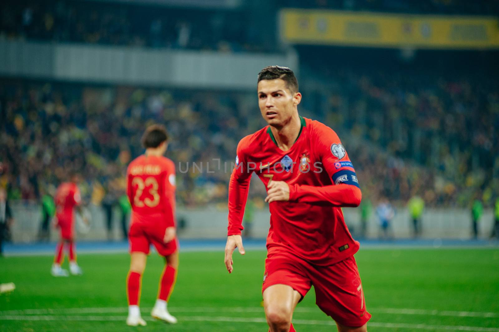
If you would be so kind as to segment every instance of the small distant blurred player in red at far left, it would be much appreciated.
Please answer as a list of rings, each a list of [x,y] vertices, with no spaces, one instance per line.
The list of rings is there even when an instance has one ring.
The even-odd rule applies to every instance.
[[[83,272],[76,263],[76,251],[74,245],[74,209],[80,208],[81,195],[78,189],[80,176],[72,174],[69,182],[63,182],[57,188],[55,194],[55,219],[54,224],[60,230],[60,241],[55,251],[54,263],[51,273],[54,277],[67,277],[67,270],[61,268],[64,259],[64,244],[67,244],[69,254],[69,271],[73,275],[81,275]],[[88,220],[84,218],[84,222]]]

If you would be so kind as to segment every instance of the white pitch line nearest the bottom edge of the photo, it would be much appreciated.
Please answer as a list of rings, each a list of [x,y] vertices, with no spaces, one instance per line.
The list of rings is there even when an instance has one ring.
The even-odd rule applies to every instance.
[[[147,321],[152,321],[150,317],[145,317]],[[3,321],[94,321],[108,322],[121,321],[125,322],[124,316],[15,316],[7,315],[0,316]],[[197,321],[197,322],[229,322],[229,323],[266,323],[264,318],[242,318],[242,317],[208,317],[208,316],[186,316],[178,317],[182,321]],[[327,325],[334,326],[333,321],[317,321],[317,320],[293,320],[295,324],[302,325]],[[499,328],[481,328],[474,326],[460,325],[426,325],[426,324],[405,324],[405,323],[368,323],[371,327],[388,328],[388,329],[409,329],[409,330],[443,330],[443,331],[470,331],[470,332],[499,332]]]

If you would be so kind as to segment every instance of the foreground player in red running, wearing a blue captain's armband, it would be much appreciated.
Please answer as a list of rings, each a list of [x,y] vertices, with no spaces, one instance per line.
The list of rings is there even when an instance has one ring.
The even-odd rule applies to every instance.
[[[295,331],[294,308],[313,285],[318,307],[340,332],[366,332],[371,315],[353,255],[359,249],[341,207],[360,204],[353,165],[336,133],[298,115],[301,101],[291,69],[263,68],[258,106],[268,126],[243,138],[229,183],[225,264],[245,254],[241,231],[250,177],[267,188],[270,229],[263,274],[263,304],[271,332]]]

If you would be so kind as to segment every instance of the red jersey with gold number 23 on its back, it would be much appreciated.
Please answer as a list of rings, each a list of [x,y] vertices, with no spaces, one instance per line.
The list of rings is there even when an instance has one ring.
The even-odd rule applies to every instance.
[[[132,222],[175,222],[175,165],[166,157],[142,155],[127,169],[127,195]]]

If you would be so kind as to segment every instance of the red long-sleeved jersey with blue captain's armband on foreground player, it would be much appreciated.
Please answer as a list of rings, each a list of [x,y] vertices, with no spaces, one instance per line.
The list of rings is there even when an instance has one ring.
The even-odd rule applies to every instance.
[[[243,230],[254,171],[265,186],[270,179],[289,185],[289,201],[269,204],[268,255],[284,251],[314,264],[334,264],[359,249],[341,207],[358,206],[362,195],[353,165],[336,133],[318,121],[300,120],[300,134],[288,151],[277,147],[269,126],[239,142],[229,182],[228,235]]]

